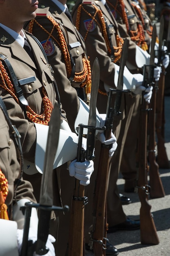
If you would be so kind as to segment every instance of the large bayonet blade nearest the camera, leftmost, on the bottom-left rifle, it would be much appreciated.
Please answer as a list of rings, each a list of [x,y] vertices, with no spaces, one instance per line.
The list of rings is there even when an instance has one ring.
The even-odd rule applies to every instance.
[[[40,189],[40,205],[53,205],[53,164],[58,146],[60,133],[60,111],[58,103],[55,103],[49,121],[49,131],[45,152],[44,169]]]

